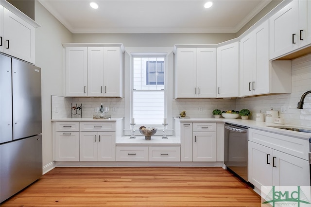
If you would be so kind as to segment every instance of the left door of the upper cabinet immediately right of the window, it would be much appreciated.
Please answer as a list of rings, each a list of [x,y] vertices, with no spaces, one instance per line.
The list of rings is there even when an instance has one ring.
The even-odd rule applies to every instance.
[[[175,98],[194,98],[197,93],[196,48],[178,48],[175,56]]]

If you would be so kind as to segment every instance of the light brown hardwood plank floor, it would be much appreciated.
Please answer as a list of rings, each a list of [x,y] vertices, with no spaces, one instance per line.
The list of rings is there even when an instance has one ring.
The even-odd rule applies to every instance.
[[[220,167],[55,168],[1,207],[260,207],[260,197]]]

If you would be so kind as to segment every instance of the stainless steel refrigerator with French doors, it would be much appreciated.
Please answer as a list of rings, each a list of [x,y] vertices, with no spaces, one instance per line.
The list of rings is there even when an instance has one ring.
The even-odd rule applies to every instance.
[[[0,202],[42,175],[41,69],[0,53]]]

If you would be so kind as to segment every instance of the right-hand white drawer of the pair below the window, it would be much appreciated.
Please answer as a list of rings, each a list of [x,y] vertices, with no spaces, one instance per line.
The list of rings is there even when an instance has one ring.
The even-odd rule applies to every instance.
[[[149,147],[148,161],[179,162],[180,147]]]

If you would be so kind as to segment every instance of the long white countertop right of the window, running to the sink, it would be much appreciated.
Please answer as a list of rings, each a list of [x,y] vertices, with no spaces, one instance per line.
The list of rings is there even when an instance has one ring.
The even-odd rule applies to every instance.
[[[252,129],[259,129],[268,132],[274,132],[277,134],[282,134],[286,136],[296,137],[296,138],[303,138],[309,139],[311,138],[311,133],[306,132],[296,132],[286,129],[278,129],[269,126],[291,126],[294,128],[303,128],[311,130],[311,127],[300,126],[300,125],[293,125],[293,124],[276,124],[276,123],[269,123],[269,122],[259,122],[254,120],[242,120],[242,119],[224,119],[224,118],[190,118],[190,119],[179,119],[174,118],[180,122],[226,122],[226,123],[233,123],[237,125],[246,126]]]

